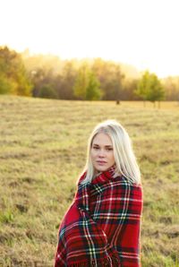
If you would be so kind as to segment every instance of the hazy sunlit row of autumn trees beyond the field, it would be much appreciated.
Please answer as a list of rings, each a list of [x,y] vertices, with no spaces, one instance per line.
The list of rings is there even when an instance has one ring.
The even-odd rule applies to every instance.
[[[179,77],[130,77],[112,61],[61,60],[0,47],[0,93],[49,99],[179,100]]]

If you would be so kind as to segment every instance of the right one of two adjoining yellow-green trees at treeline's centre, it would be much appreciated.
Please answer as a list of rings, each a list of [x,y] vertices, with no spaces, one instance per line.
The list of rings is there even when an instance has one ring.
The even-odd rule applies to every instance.
[[[101,96],[100,83],[94,73],[89,74],[89,82],[86,88],[86,100],[98,100]]]

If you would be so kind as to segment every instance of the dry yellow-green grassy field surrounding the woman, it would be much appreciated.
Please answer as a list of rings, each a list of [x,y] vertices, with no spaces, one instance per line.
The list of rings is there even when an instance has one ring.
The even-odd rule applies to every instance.
[[[142,267],[179,266],[179,105],[0,96],[0,266],[53,266],[94,125],[112,118],[141,167]]]

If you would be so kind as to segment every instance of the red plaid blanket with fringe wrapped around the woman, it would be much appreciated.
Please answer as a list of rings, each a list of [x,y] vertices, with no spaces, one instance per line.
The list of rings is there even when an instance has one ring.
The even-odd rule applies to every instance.
[[[141,185],[114,168],[81,185],[59,227],[55,267],[140,266]]]

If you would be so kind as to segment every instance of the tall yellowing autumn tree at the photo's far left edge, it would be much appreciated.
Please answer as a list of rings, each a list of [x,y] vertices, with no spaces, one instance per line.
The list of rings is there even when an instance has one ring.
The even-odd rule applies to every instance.
[[[31,95],[31,83],[21,55],[8,47],[0,47],[1,93]]]

